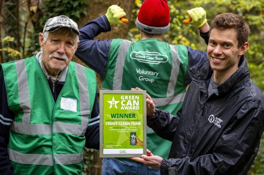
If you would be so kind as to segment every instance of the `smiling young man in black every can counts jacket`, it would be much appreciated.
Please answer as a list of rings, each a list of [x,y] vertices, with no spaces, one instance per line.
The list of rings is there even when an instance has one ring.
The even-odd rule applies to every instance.
[[[147,99],[148,126],[172,141],[169,159],[148,152],[133,160],[160,168],[162,175],[169,167],[177,175],[247,174],[264,130],[264,95],[250,79],[243,55],[249,32],[237,14],[214,18],[209,61],[190,69],[192,82],[177,116],[170,120]]]

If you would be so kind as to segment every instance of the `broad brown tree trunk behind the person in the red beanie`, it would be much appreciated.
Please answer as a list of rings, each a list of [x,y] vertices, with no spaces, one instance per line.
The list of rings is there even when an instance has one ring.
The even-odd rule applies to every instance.
[[[126,18],[130,19],[132,10],[135,6],[134,0],[112,0],[112,1],[105,1],[105,0],[93,0],[88,1],[87,5],[87,15],[82,16],[78,21],[78,27],[81,28],[86,22],[91,21],[103,14],[106,13],[108,7],[111,5],[118,5],[124,9],[126,12]],[[106,40],[111,38],[125,38],[126,34],[128,33],[128,25],[118,24],[111,26],[111,32],[101,33],[95,39]],[[76,56],[73,56],[72,61],[77,62],[83,66],[88,67],[85,65],[81,60],[79,60]],[[101,77],[96,74],[97,77],[97,90],[101,89]],[[84,154],[84,174],[93,174],[93,175],[101,175],[101,167],[102,167],[102,158],[99,157],[99,152],[94,151],[91,149],[86,149]]]

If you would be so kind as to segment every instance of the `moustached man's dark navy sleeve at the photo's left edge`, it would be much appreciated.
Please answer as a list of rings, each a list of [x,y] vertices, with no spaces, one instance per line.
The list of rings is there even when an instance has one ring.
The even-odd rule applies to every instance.
[[[2,175],[13,175],[11,162],[7,153],[9,142],[9,129],[14,114],[9,110],[7,104],[6,88],[4,84],[3,72],[0,72],[0,172]]]

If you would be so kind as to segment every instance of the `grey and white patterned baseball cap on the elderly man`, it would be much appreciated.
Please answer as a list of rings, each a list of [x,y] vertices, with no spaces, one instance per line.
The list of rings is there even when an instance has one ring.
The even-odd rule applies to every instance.
[[[77,23],[64,15],[49,18],[43,28],[43,33],[45,31],[53,32],[59,29],[60,27],[69,27],[72,29],[74,33],[76,33],[77,35],[80,35]]]

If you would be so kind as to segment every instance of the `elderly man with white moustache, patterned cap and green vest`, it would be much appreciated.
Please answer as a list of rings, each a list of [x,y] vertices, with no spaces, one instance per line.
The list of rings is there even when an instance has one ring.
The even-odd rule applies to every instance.
[[[1,174],[82,174],[83,149],[99,149],[95,72],[71,62],[77,24],[50,18],[41,52],[1,64]]]

